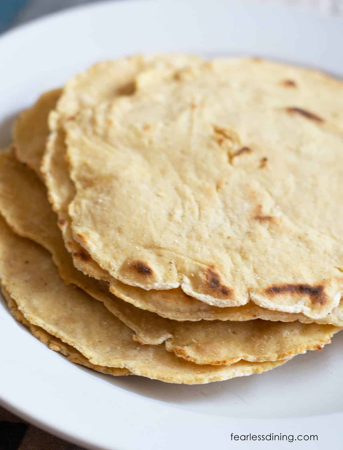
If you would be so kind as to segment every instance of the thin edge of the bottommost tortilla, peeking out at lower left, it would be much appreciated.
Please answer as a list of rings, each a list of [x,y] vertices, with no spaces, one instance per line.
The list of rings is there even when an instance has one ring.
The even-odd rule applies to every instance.
[[[43,342],[46,346],[49,347],[50,350],[58,351],[62,353],[62,355],[67,356],[68,360],[88,367],[89,369],[94,369],[97,372],[101,372],[102,374],[108,374],[113,376],[121,376],[121,375],[130,375],[129,370],[127,369],[116,369],[115,367],[102,367],[91,364],[85,356],[83,356],[79,351],[77,351],[74,347],[66,344],[61,341],[61,339],[55,338],[53,335],[47,333],[44,329],[37,327],[36,325],[31,324],[22,313],[19,311],[17,303],[13,300],[13,298],[9,295],[7,290],[2,287],[2,294],[7,302],[10,313],[13,315],[14,319],[18,320],[21,324],[23,324],[35,338],[39,339],[40,342]]]

